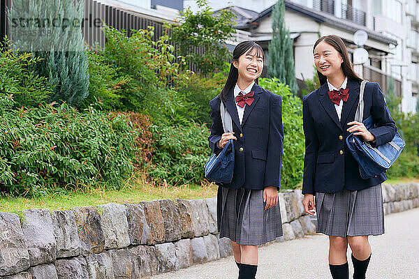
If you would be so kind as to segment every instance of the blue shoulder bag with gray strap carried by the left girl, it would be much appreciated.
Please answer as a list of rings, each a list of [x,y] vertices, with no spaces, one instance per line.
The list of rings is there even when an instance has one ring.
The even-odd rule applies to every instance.
[[[220,104],[221,121],[223,122],[224,133],[233,132],[233,121],[221,101]],[[234,144],[233,140],[228,140],[226,146],[216,155],[212,154],[204,166],[205,177],[216,183],[230,183],[233,179],[234,170]]]

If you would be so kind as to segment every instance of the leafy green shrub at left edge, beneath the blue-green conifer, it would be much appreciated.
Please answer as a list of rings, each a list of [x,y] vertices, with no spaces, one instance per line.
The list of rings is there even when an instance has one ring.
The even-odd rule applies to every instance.
[[[33,68],[41,59],[29,53],[18,54],[6,47],[0,51],[0,93],[13,94],[15,106],[37,106],[53,93],[45,77],[39,77]]]

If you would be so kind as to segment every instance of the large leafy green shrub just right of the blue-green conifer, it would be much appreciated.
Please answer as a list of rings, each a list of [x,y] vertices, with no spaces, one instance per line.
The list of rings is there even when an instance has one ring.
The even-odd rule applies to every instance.
[[[103,32],[105,47],[89,54],[89,69],[94,75],[89,100],[100,98],[105,107],[116,110],[139,112],[150,107],[158,89],[179,74],[174,47],[166,43],[168,36],[154,41],[152,27],[131,30],[128,36],[125,30],[105,25]],[[105,69],[103,76],[101,65]]]

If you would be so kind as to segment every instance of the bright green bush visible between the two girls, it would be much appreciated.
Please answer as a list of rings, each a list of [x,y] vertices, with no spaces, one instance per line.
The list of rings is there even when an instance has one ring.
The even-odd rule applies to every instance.
[[[277,78],[259,80],[259,85],[282,98],[284,125],[284,154],[281,167],[281,188],[296,188],[302,181],[304,164],[304,132],[302,130],[302,103],[293,96],[288,85]]]

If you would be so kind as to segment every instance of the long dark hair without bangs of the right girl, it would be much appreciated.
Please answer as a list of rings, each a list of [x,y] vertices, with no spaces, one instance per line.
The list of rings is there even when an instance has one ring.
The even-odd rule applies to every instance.
[[[314,44],[313,54],[314,54],[314,49],[316,48],[316,46],[323,41],[325,43],[328,43],[329,45],[332,45],[332,47],[335,47],[335,50],[337,50],[337,52],[341,54],[342,58],[344,59],[344,61],[341,63],[341,68],[344,71],[344,75],[346,75],[348,79],[358,80],[358,82],[362,82],[362,78],[355,73],[355,70],[353,70],[351,60],[349,60],[349,55],[348,55],[348,50],[346,49],[346,45],[344,41],[341,38],[339,38],[339,36],[328,35],[328,36],[323,36],[319,38]],[[321,85],[325,84],[325,82],[328,80],[328,78],[322,73],[320,73],[318,70],[317,70],[317,75],[318,75],[318,80],[320,81]]]

